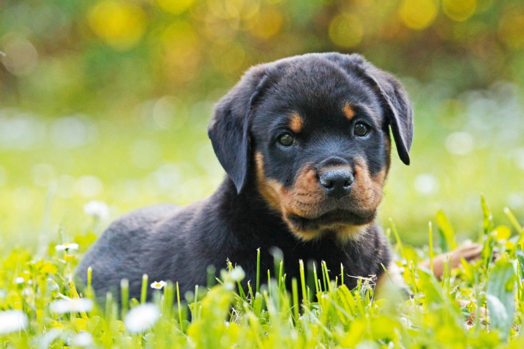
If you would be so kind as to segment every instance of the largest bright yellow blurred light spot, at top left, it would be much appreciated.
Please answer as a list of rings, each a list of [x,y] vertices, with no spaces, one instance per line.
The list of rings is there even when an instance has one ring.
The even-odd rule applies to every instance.
[[[138,43],[146,26],[144,10],[135,4],[105,0],[88,13],[89,26],[107,44],[126,50]]]

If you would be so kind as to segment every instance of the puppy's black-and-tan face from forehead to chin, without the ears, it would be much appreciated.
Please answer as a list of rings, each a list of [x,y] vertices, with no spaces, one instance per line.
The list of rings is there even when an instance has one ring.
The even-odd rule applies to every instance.
[[[389,168],[380,101],[329,64],[294,68],[252,111],[258,190],[301,239],[356,237],[375,218]]]

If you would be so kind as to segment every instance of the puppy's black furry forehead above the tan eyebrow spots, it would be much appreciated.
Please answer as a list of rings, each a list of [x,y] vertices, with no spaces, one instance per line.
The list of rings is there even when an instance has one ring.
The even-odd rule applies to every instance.
[[[302,117],[347,115],[346,106],[363,106],[379,113],[374,90],[351,71],[326,60],[299,60],[277,66],[261,105],[277,113]],[[353,108],[355,111],[358,108]]]

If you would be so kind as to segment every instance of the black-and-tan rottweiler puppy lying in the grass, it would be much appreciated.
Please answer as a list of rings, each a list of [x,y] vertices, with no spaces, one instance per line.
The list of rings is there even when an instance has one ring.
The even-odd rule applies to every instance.
[[[390,129],[409,164],[408,96],[360,55],[311,53],[254,66],[215,106],[208,132],[227,173],[216,192],[187,207],[152,206],[116,220],[77,274],[85,282],[91,266],[99,296],[126,278],[138,298],[144,273],[185,292],[206,285],[208,266],[219,271],[227,259],[253,282],[256,250],[261,271],[272,270],[276,246],[288,281],[299,278],[299,260],[325,261],[333,277],[342,264],[347,275],[385,279],[381,264],[390,265],[391,252],[375,217]]]

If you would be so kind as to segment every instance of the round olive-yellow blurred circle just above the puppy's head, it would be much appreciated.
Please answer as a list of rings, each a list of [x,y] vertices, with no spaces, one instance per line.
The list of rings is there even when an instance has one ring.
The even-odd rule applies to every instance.
[[[329,38],[340,47],[350,48],[362,41],[364,27],[361,20],[352,14],[335,16],[329,24]]]

